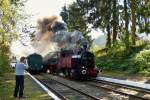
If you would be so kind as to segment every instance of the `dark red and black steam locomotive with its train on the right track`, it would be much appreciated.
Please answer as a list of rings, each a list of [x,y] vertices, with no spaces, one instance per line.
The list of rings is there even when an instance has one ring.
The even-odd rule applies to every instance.
[[[99,72],[95,68],[95,56],[89,51],[74,54],[72,50],[62,50],[53,53],[43,64],[45,72],[78,80],[95,78]]]

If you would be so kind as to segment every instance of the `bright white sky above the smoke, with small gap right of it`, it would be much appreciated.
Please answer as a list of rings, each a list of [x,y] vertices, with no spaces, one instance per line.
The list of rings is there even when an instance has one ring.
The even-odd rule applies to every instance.
[[[25,11],[28,14],[34,15],[29,20],[33,25],[36,25],[37,20],[43,17],[52,15],[59,16],[62,7],[66,4],[69,5],[76,0],[28,0],[25,4]],[[61,17],[59,16],[61,20]],[[91,33],[93,39],[102,35],[102,32],[93,30]]]

